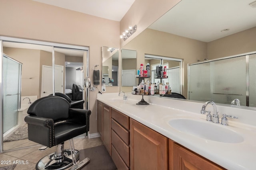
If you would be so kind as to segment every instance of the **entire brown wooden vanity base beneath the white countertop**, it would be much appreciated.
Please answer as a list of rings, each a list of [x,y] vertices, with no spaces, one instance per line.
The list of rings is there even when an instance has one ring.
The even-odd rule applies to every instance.
[[[224,170],[97,101],[98,131],[118,170]]]

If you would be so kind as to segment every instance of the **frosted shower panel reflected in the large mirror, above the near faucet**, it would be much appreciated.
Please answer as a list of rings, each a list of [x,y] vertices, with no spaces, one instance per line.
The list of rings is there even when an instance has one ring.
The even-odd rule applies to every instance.
[[[214,102],[231,104],[238,99],[241,106],[246,106],[246,56],[210,63]]]

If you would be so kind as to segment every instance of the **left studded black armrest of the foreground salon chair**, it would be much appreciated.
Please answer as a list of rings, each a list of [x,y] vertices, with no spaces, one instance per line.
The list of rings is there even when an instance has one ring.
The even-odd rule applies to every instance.
[[[35,115],[25,117],[28,123],[28,139],[46,147],[55,146],[54,120]]]

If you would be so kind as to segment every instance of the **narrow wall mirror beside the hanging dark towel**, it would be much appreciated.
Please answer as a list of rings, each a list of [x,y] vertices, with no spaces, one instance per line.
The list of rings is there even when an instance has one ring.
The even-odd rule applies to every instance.
[[[118,86],[119,49],[102,47],[102,86]]]

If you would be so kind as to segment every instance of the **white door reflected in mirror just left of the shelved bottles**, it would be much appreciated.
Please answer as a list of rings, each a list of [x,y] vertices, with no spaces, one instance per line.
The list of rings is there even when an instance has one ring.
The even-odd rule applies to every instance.
[[[136,86],[136,70],[122,70],[122,86]]]

